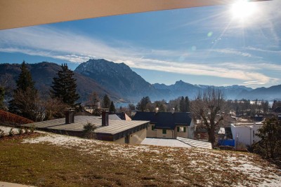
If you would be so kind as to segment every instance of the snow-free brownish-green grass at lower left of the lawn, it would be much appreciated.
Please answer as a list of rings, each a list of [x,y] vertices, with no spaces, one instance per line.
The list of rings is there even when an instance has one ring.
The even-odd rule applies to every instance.
[[[34,186],[153,186],[166,179],[155,179],[147,169],[133,167],[129,160],[113,160],[107,153],[81,155],[74,148],[50,144],[1,142],[0,181]],[[100,158],[108,158],[100,160]],[[167,165],[157,166],[163,173]]]

